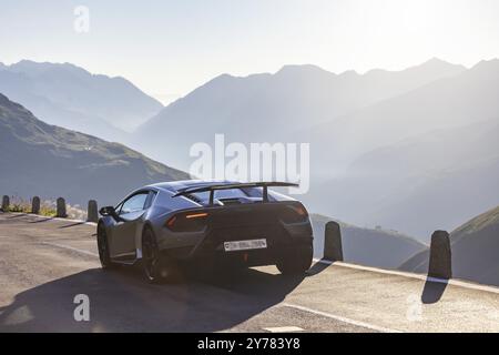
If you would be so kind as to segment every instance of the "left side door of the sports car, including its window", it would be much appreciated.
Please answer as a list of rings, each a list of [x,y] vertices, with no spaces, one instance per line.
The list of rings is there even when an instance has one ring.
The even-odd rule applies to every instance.
[[[120,221],[114,225],[111,240],[111,255],[116,260],[135,258],[135,234],[142,229],[142,215],[145,213],[149,191],[129,196],[116,210]]]

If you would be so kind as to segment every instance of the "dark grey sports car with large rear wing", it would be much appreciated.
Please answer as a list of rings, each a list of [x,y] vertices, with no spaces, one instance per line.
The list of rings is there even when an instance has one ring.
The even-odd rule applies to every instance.
[[[308,213],[301,202],[268,190],[277,186],[296,185],[177,181],[141,187],[100,210],[102,267],[141,262],[150,282],[169,278],[184,263],[304,273],[313,257]]]

